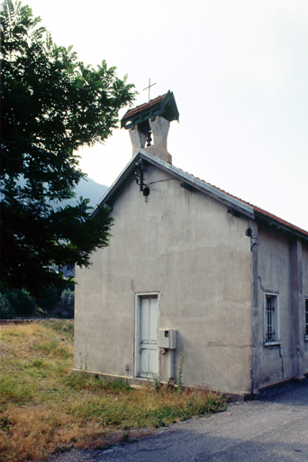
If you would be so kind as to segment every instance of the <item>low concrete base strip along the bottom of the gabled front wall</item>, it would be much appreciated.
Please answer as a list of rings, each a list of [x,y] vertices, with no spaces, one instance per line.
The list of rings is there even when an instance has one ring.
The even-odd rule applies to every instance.
[[[80,370],[80,369],[73,369],[72,373],[73,374],[79,374],[81,372],[86,372],[86,374],[89,375],[94,375],[98,376],[102,379],[109,379],[109,380],[121,380],[124,383],[127,383],[128,385],[133,386],[144,386],[148,383],[152,383],[150,379],[144,379],[141,377],[127,377],[126,375],[115,375],[115,374],[104,374],[102,372],[95,372],[95,371],[85,371],[85,370]],[[162,384],[167,385],[167,382],[161,382]],[[177,386],[177,385],[176,385]],[[198,387],[201,390],[204,390],[205,387]],[[190,386],[182,386],[183,390],[194,390],[195,387],[190,387]],[[208,389],[207,389],[208,390]],[[229,392],[223,392],[222,390],[209,390],[210,392],[213,393],[223,393],[225,396],[227,396],[228,400],[230,402],[244,402],[247,401],[251,398],[251,394],[249,393],[229,393]]]

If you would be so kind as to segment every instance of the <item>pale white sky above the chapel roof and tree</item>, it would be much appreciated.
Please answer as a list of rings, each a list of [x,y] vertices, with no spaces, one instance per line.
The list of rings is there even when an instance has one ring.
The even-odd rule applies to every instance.
[[[136,105],[149,78],[151,98],[174,92],[174,165],[308,230],[307,0],[23,4],[79,60],[128,74]],[[131,159],[129,134],[80,154],[82,170],[110,186]]]

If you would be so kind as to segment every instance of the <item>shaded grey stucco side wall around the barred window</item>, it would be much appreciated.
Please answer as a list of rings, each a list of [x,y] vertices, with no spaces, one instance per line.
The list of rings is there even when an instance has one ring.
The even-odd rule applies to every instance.
[[[294,237],[258,223],[258,314],[254,389],[303,376],[307,342],[303,340],[303,293],[307,291],[307,248]],[[305,289],[304,289],[305,288]],[[266,342],[266,294],[277,297],[276,342]]]

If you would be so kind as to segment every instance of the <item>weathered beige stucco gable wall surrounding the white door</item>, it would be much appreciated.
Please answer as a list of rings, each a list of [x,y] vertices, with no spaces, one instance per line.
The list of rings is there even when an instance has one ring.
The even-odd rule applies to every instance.
[[[135,293],[159,292],[159,327],[178,332],[183,383],[250,391],[248,220],[149,166],[144,199],[132,179],[113,204],[108,248],[77,270],[75,367],[133,375]],[[167,358],[160,373],[167,377]],[[126,371],[128,365],[129,371]]]

